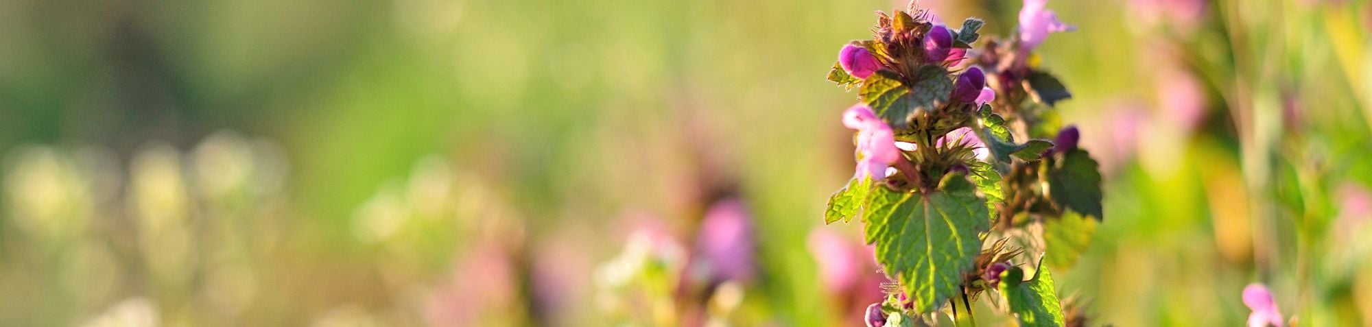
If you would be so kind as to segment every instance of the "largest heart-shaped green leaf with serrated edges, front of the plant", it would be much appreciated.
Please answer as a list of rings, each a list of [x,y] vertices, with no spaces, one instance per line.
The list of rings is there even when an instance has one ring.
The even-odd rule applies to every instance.
[[[962,273],[981,251],[978,234],[991,228],[985,201],[962,174],[948,174],[940,191],[873,188],[863,218],[877,262],[896,276],[915,312],[941,308],[962,291]]]

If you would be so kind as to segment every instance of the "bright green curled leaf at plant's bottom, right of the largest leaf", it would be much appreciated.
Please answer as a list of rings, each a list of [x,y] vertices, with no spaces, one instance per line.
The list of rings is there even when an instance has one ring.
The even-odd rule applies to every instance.
[[[1058,302],[1058,293],[1052,286],[1052,272],[1043,267],[1029,280],[1024,279],[1024,271],[1013,267],[1000,273],[1000,294],[1006,297],[1010,312],[1015,313],[1021,327],[1059,327],[1066,324],[1062,316],[1062,304]]]

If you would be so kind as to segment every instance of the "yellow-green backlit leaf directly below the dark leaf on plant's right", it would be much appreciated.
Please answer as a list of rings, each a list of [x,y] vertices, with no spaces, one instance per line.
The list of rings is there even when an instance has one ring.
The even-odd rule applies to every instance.
[[[1063,212],[1062,217],[1044,220],[1044,260],[1048,267],[1067,269],[1076,265],[1077,257],[1091,246],[1091,235],[1095,232],[1096,220],[1072,210]]]

